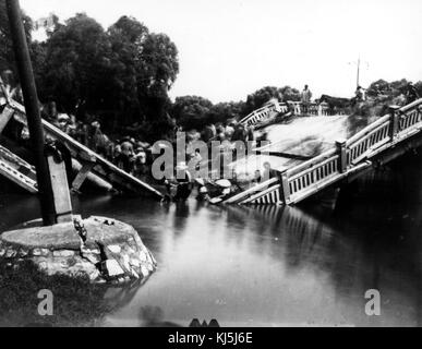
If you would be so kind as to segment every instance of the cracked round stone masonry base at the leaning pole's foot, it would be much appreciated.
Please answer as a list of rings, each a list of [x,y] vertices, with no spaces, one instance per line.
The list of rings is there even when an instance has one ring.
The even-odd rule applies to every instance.
[[[24,229],[3,232],[0,257],[8,257],[16,267],[21,261],[31,260],[47,275],[86,275],[93,282],[119,279],[123,284],[154,272],[154,256],[133,227],[104,217],[91,217],[83,224],[87,232],[85,243],[73,222],[51,227],[28,224]],[[106,261],[101,262],[98,243],[105,246]]]

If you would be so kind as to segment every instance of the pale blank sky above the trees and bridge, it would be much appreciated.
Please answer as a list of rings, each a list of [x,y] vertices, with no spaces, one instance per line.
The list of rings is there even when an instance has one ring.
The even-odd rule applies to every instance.
[[[421,0],[21,0],[34,20],[85,12],[105,28],[121,15],[179,50],[170,97],[245,100],[264,86],[353,95],[378,79],[422,80]]]

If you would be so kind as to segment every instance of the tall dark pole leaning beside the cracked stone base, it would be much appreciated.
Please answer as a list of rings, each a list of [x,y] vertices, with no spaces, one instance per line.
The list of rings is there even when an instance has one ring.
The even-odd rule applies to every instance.
[[[25,103],[35,168],[37,171],[38,195],[45,226],[56,224],[55,197],[51,188],[47,159],[44,154],[44,129],[38,108],[38,95],[35,86],[33,67],[26,43],[19,0],[7,0],[10,32],[17,61],[17,71]]]

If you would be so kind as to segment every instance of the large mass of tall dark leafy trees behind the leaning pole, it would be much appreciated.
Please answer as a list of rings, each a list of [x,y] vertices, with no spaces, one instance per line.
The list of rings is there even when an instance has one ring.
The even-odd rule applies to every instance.
[[[4,9],[4,0],[0,0]],[[0,71],[15,74],[5,12],[0,11]],[[178,50],[165,34],[150,33],[137,20],[120,17],[107,31],[84,13],[60,24],[44,43],[25,29],[41,103],[56,101],[62,112],[79,119],[95,115],[106,129],[134,122],[149,129],[152,137],[173,128],[168,116],[168,91],[179,72]],[[159,130],[159,132],[155,132]]]

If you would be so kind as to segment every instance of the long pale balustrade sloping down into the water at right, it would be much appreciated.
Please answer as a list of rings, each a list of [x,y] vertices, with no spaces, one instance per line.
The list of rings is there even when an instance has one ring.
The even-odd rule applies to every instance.
[[[336,147],[280,172],[278,179],[261,184],[265,188],[261,193],[257,192],[260,188],[255,186],[254,192],[240,193],[231,203],[256,201],[268,193],[268,186],[273,191],[279,190],[284,203],[298,203],[349,173],[367,167],[367,159],[372,156],[421,130],[422,99],[402,108],[393,106],[389,115],[379,118],[347,141],[336,142]]]

